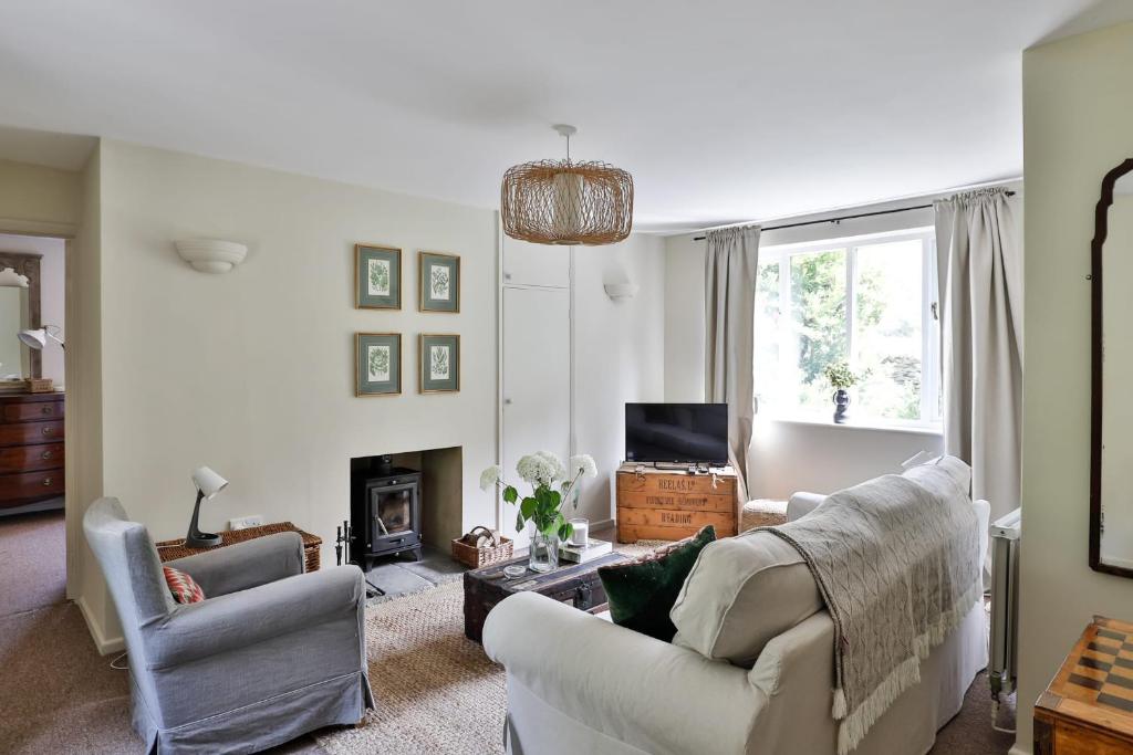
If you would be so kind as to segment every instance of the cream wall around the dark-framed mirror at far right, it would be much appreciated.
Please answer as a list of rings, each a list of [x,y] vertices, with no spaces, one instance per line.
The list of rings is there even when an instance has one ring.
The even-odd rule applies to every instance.
[[[1023,55],[1026,329],[1017,745],[1094,614],[1133,618],[1133,580],[1088,566],[1090,240],[1101,179],[1133,157],[1133,25]],[[1122,333],[1121,337],[1130,337]]]

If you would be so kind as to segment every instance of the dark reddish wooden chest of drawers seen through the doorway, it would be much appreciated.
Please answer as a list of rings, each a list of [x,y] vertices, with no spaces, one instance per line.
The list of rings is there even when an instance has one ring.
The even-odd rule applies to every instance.
[[[0,396],[0,508],[63,495],[63,394]]]

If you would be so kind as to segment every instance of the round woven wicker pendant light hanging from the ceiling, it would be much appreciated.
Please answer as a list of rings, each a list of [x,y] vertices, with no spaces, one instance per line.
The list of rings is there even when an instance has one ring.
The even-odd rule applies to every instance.
[[[513,165],[503,174],[503,231],[534,243],[596,247],[616,243],[633,228],[633,178],[600,162],[570,158],[578,129],[555,126],[566,137],[566,160]]]

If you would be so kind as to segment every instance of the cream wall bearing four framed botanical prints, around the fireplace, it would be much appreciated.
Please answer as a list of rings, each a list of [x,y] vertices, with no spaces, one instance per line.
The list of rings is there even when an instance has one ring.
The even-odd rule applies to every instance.
[[[477,487],[495,457],[493,212],[113,141],[101,174],[107,495],[176,538],[208,464],[231,484],[204,529],[290,520],[333,563],[351,457],[461,446],[462,526],[494,523]],[[194,272],[172,242],[202,235],[249,244],[247,260]],[[402,248],[400,311],[355,309],[358,241]],[[417,311],[419,249],[461,256],[459,315]],[[355,397],[356,332],[402,334],[401,396]],[[461,335],[460,393],[417,393],[421,332]]]

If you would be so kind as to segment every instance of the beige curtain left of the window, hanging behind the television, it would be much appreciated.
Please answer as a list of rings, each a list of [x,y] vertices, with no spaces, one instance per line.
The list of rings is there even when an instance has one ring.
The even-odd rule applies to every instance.
[[[748,500],[748,446],[755,414],[751,360],[759,226],[708,231],[705,246],[705,401],[729,406],[730,461],[740,478],[739,517]]]

